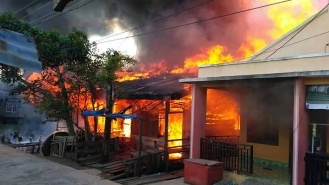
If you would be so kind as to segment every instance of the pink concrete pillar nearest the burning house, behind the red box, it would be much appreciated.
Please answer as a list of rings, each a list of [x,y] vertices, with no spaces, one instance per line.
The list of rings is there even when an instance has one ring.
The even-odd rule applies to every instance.
[[[194,83],[191,106],[190,158],[200,157],[200,139],[205,137],[207,89]]]

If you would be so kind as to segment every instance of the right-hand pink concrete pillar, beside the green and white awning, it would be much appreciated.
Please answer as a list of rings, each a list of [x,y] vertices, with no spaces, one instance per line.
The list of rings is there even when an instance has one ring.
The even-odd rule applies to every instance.
[[[303,79],[295,81],[294,87],[294,152],[293,152],[293,185],[304,185],[305,153],[308,151],[309,115],[306,110],[306,92]]]

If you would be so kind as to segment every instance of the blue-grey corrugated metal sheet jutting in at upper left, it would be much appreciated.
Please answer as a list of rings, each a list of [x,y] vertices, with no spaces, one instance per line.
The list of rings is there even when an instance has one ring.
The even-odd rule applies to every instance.
[[[0,63],[41,73],[35,41],[32,37],[0,28]]]

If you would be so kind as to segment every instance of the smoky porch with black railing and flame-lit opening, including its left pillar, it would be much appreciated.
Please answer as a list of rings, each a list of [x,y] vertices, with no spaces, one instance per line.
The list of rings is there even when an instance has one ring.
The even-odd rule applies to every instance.
[[[235,174],[291,183],[293,79],[196,83],[191,115],[191,158],[221,161]]]

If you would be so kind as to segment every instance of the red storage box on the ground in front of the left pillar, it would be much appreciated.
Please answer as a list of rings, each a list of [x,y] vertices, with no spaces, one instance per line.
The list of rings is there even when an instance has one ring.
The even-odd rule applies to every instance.
[[[184,160],[184,182],[191,185],[213,185],[222,180],[223,163],[203,159]]]

